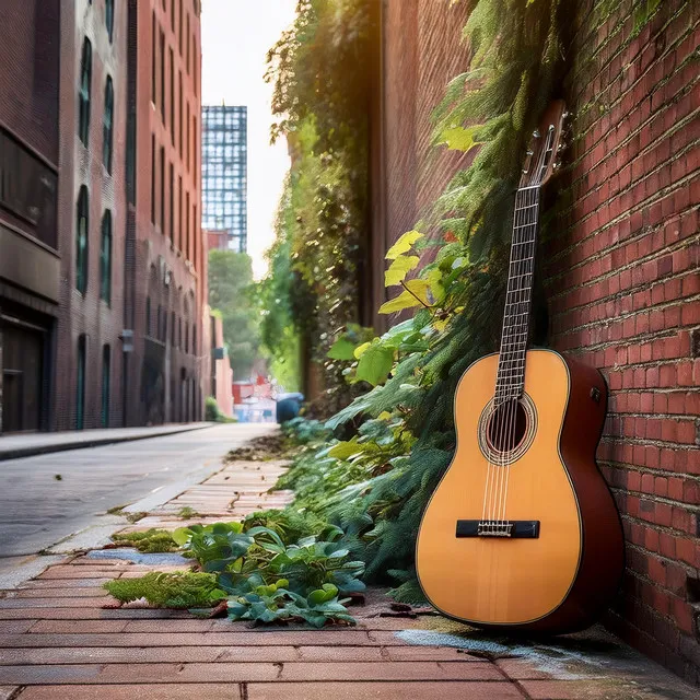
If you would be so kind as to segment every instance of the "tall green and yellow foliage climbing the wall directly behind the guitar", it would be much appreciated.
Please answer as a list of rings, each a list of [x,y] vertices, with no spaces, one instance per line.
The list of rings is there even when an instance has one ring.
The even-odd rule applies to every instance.
[[[295,489],[295,508],[343,529],[366,562],[365,581],[393,580],[407,602],[420,597],[412,569],[420,517],[455,448],[457,382],[497,348],[516,164],[562,63],[560,0],[465,2],[470,66],[447,85],[433,126],[436,147],[475,149],[472,160],[387,254],[385,281],[399,291],[381,311],[416,314],[361,345],[336,338],[331,355],[346,376],[374,388],[327,423],[350,438],[305,448],[281,481]],[[436,250],[421,266],[429,238]]]

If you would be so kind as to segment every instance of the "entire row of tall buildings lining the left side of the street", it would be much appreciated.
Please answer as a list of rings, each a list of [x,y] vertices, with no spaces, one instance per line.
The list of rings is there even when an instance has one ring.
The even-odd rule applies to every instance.
[[[0,433],[203,416],[199,13],[2,3]]]

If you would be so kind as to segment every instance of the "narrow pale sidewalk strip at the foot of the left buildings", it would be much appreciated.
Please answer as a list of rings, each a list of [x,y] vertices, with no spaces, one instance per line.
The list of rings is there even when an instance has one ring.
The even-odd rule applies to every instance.
[[[151,428],[110,428],[109,430],[75,430],[60,433],[22,433],[0,436],[0,462],[33,455],[112,445],[133,440],[174,435],[211,428],[217,423],[170,423]]]

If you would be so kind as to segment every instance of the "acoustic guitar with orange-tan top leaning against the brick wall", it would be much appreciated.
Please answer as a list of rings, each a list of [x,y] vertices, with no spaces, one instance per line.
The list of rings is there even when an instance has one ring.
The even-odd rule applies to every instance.
[[[553,103],[534,133],[515,196],[500,352],[459,381],[457,450],[418,534],[428,599],[480,627],[583,629],[615,595],[623,568],[620,520],[595,463],[603,376],[527,349],[540,189],[556,167],[564,116]]]

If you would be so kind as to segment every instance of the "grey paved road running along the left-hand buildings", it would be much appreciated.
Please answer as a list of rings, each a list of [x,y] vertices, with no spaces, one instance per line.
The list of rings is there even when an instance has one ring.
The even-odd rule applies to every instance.
[[[217,471],[229,450],[272,429],[217,425],[0,462],[0,570],[2,558],[37,553],[100,525],[109,509],[168,501]]]

